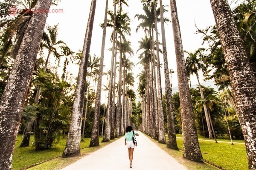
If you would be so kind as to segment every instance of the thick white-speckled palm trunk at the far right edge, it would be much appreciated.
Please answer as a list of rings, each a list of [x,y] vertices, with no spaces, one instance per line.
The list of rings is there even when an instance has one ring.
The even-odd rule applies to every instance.
[[[256,162],[256,77],[227,0],[210,0],[244,135],[249,170]],[[225,16],[225,17],[222,17]],[[232,36],[230,36],[232,35]]]

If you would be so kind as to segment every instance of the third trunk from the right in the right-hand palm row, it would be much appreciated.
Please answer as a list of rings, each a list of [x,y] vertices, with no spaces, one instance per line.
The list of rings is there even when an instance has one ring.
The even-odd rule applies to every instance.
[[[167,130],[168,130],[167,147],[174,150],[179,150],[177,146],[177,141],[176,141],[174,116],[173,116],[173,108],[172,108],[172,89],[171,89],[170,78],[169,78],[162,0],[160,0],[160,20],[161,20],[161,31],[162,31],[162,41],[163,41],[164,78],[165,78],[165,85],[166,85],[165,86],[166,87],[166,115],[167,115]]]

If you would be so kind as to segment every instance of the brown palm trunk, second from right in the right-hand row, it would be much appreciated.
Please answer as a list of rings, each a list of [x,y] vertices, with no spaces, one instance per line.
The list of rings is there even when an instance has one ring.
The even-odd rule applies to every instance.
[[[203,157],[199,147],[195,121],[193,119],[192,102],[189,93],[189,84],[180,34],[180,24],[177,17],[176,1],[170,0],[170,4],[172,11],[172,29],[175,42],[178,87],[180,95],[180,109],[183,130],[183,157],[192,161],[202,162]]]

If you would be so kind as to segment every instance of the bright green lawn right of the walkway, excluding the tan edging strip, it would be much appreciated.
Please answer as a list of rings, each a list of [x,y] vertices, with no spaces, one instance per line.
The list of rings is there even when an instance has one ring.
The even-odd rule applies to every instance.
[[[182,136],[177,134],[177,137]],[[198,138],[204,139],[201,136]],[[230,142],[229,139],[217,139],[217,141]],[[223,142],[216,144],[215,142],[199,140],[201,152],[204,153],[203,158],[227,170],[248,170],[244,144],[231,145]],[[233,142],[242,143],[242,140],[234,140]],[[183,150],[183,139],[177,138],[177,145],[180,150]]]

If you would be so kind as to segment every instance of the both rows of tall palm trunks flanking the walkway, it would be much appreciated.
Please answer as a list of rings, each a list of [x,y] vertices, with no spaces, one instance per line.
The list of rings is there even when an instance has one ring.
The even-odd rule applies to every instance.
[[[216,20],[216,26],[224,51],[224,58],[227,63],[227,70],[231,80],[231,86],[236,99],[237,114],[239,116],[242,131],[244,134],[245,145],[247,149],[247,157],[249,162],[249,169],[255,169],[254,162],[256,161],[256,151],[255,151],[255,131],[256,126],[254,124],[255,112],[256,112],[256,78],[254,72],[250,66],[250,62],[244,51],[242,45],[242,40],[239,37],[239,32],[236,27],[236,23],[233,19],[229,4],[227,0],[210,0],[212,5],[212,10]],[[153,6],[154,19],[153,22],[148,23],[145,28],[147,37],[143,41],[149,44],[149,48],[144,48],[141,55],[143,67],[145,71],[142,75],[145,77],[145,82],[141,83],[144,86],[145,91],[141,90],[143,96],[143,131],[148,133],[150,136],[157,139],[161,143],[166,143],[165,138],[165,126],[163,120],[163,99],[161,90],[161,80],[160,80],[160,50],[158,41],[158,29],[157,29],[157,10],[156,10],[156,0],[143,1],[145,7],[150,11],[150,6]],[[108,1],[106,3],[108,5]],[[119,4],[119,10],[116,14],[116,4]],[[133,65],[127,54],[131,53],[132,50],[129,42],[124,38],[124,33],[129,32],[129,19],[125,17],[125,13],[122,13],[122,4],[128,5],[125,0],[116,1],[114,0],[114,12],[113,12],[113,34],[112,34],[112,57],[111,57],[111,71],[110,71],[110,81],[109,81],[109,92],[108,92],[108,106],[106,115],[106,125],[103,142],[109,142],[113,137],[118,137],[124,134],[124,127],[130,124],[130,119],[128,112],[131,110],[131,102],[127,101],[128,97],[128,84],[127,77],[130,77],[130,82],[132,81],[132,75],[128,74],[129,67]],[[167,52],[164,37],[164,18],[163,18],[163,5],[162,1],[159,1],[160,10],[160,22],[161,22],[161,32],[162,32],[162,44],[163,44],[163,57],[164,68],[165,68],[165,84],[166,84],[166,102],[167,104],[167,118],[168,118],[168,147],[177,149],[177,144],[175,142],[175,130],[173,122],[173,112],[172,112],[172,99],[171,99],[171,87],[169,80],[169,69],[167,63]],[[50,0],[38,0],[36,1],[36,8],[49,9],[51,5]],[[106,5],[106,11],[107,11]],[[180,96],[180,108],[181,108],[181,119],[182,119],[182,129],[183,129],[183,156],[187,159],[193,161],[203,161],[200,147],[198,144],[198,137],[195,128],[195,122],[193,119],[192,112],[192,101],[189,94],[189,83],[187,77],[187,69],[183,54],[182,40],[180,35],[179,21],[177,17],[177,7],[175,0],[170,0],[171,5],[171,16],[172,16],[172,27],[174,33],[175,42],[175,52],[177,61],[177,74],[178,74],[178,84],[179,84],[179,96]],[[80,154],[80,141],[81,141],[81,123],[82,123],[82,113],[84,106],[84,94],[85,94],[85,80],[87,77],[87,66],[90,53],[90,42],[93,30],[93,19],[95,14],[96,0],[92,0],[90,7],[90,14],[87,23],[86,35],[84,40],[84,48],[81,54],[79,75],[76,85],[76,93],[73,102],[73,111],[70,120],[70,129],[67,137],[66,147],[63,153],[63,157],[77,156]],[[105,11],[105,22],[103,28],[108,26],[107,12]],[[122,20],[116,20],[118,16]],[[226,16],[226,17],[222,17]],[[23,111],[24,102],[26,99],[26,94],[29,88],[29,82],[31,80],[32,71],[35,65],[36,56],[39,50],[39,45],[41,38],[43,37],[44,26],[46,22],[46,13],[35,13],[32,14],[26,31],[24,33],[22,42],[17,52],[15,63],[12,68],[12,72],[9,76],[8,83],[3,92],[3,96],[0,99],[0,143],[3,147],[0,148],[0,166],[3,169],[12,168],[12,153],[15,145],[15,139],[17,136],[17,130],[20,124],[21,114]],[[105,44],[105,31],[103,31],[102,46]],[[154,41],[153,34],[155,32],[156,40]],[[119,42],[118,42],[119,38]],[[31,43],[33,42],[33,43]],[[149,42],[149,43],[148,43]],[[125,47],[126,43],[126,47]],[[156,44],[156,59],[155,64],[155,54],[154,54],[154,44]],[[8,43],[7,43],[8,45]],[[103,48],[104,50],[104,48]],[[116,73],[116,54],[119,50],[120,60],[119,60],[119,73],[122,73],[123,68],[123,81],[122,75],[119,74],[119,87],[118,87],[118,99],[116,109],[116,122],[114,122],[115,108],[115,75]],[[123,57],[121,57],[121,54]],[[103,67],[103,56],[104,52],[101,54],[100,58],[100,71],[99,71],[99,82],[102,79],[101,67]],[[157,76],[155,73],[155,66],[157,65]],[[129,75],[129,76],[128,76]],[[120,79],[121,77],[121,79]],[[142,78],[143,79],[143,78]],[[156,91],[156,79],[157,79],[157,91]],[[143,80],[144,81],[144,80]],[[123,82],[123,83],[121,83]],[[121,84],[123,86],[122,94],[123,99],[121,99]],[[131,83],[132,84],[132,83]],[[98,83],[97,94],[96,94],[96,106],[94,111],[93,122],[94,127],[94,137],[92,138],[91,144],[96,145],[98,122],[99,119],[99,99],[100,99],[100,83]],[[98,90],[99,89],[99,90]],[[169,89],[169,90],[168,90]],[[158,94],[157,94],[158,92]],[[38,92],[39,93],[39,92]],[[127,97],[125,97],[125,94]],[[169,95],[168,95],[169,94]],[[168,97],[169,98],[168,98]],[[97,98],[98,97],[98,98]],[[156,101],[157,98],[157,102]],[[202,97],[203,98],[203,97]],[[121,107],[122,101],[122,107]],[[153,104],[154,101],[154,104]],[[157,105],[156,105],[157,103]],[[122,109],[121,109],[122,108]],[[150,119],[154,118],[154,119]],[[116,126],[114,126],[116,125]],[[158,126],[158,131],[157,127]],[[114,129],[116,128],[116,129]],[[154,129],[151,132],[151,129]],[[96,131],[96,132],[95,132]],[[98,130],[99,131],[99,130]],[[112,132],[112,133],[111,133]],[[115,133],[114,133],[115,132]],[[112,138],[111,138],[112,134]],[[99,140],[99,139],[98,139]]]

